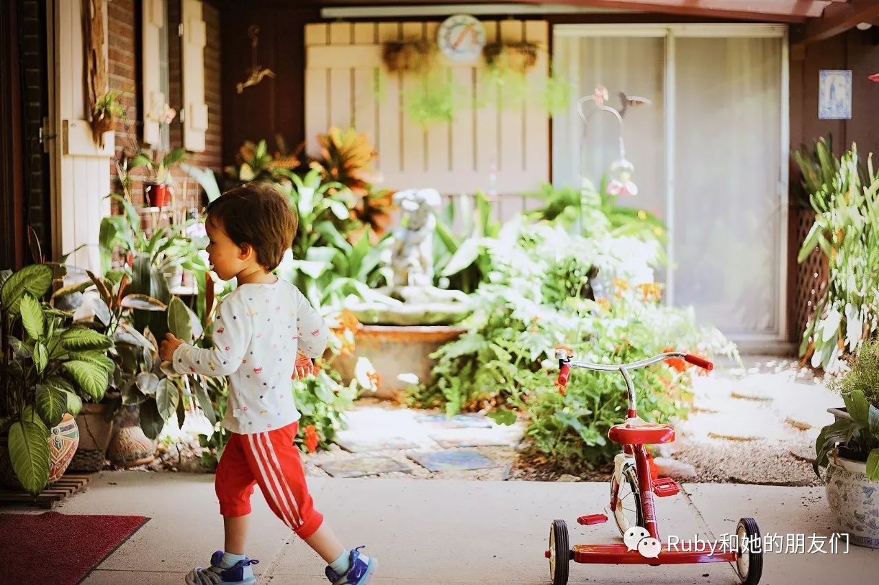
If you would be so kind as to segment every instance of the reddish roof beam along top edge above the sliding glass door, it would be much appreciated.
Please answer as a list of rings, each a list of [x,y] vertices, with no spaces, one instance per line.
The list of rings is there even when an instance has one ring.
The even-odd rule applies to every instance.
[[[544,4],[544,0],[525,0]],[[556,4],[653,11],[665,14],[804,23],[820,17],[829,4],[845,0],[553,0]]]

